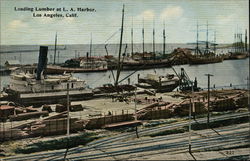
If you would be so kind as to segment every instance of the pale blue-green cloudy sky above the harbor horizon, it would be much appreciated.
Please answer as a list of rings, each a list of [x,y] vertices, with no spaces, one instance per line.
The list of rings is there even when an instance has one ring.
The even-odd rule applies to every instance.
[[[142,43],[144,24],[145,43],[192,43],[206,40],[208,23],[210,41],[232,43],[234,33],[245,34],[249,28],[248,0],[0,0],[1,45],[119,43],[122,6],[125,5],[124,43]],[[15,11],[16,8],[93,8],[95,12],[77,11]],[[64,17],[33,17],[33,14],[63,14]],[[66,17],[76,13],[78,17]],[[248,31],[249,32],[249,31]]]

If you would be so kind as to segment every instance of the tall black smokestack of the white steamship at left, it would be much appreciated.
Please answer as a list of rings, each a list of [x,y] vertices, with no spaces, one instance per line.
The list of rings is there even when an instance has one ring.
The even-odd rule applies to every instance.
[[[37,80],[41,80],[41,73],[46,68],[47,64],[47,54],[48,54],[48,46],[40,46],[38,65],[37,65]]]

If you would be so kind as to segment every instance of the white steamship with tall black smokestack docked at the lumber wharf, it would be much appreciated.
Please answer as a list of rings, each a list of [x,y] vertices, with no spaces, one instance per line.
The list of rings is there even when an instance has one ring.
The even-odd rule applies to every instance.
[[[10,84],[5,92],[11,101],[28,106],[66,103],[69,90],[70,100],[89,99],[93,92],[85,81],[71,74],[46,75],[47,46],[40,46],[36,74],[27,71],[15,71],[11,74]]]

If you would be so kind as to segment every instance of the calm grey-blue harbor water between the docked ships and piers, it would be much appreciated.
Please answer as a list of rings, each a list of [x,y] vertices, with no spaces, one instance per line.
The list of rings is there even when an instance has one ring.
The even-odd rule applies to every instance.
[[[123,46],[125,48],[125,45]],[[171,52],[176,47],[193,47],[192,45],[186,44],[167,44],[167,50]],[[53,46],[49,47],[53,49]],[[64,46],[59,46],[58,48],[64,48]],[[13,50],[38,50],[39,46],[1,46],[1,65],[4,64],[6,60],[19,60],[21,64],[31,64],[37,63],[38,51],[35,52],[16,52],[16,53],[6,53],[5,51]],[[108,50],[109,54],[117,55],[119,46],[118,45],[109,45]],[[146,45],[146,50],[151,51],[152,45]],[[93,45],[92,46],[93,55],[103,56],[106,55],[104,45]],[[157,51],[162,51],[162,45],[156,45]],[[56,62],[64,62],[69,58],[75,56],[85,56],[85,53],[89,51],[89,45],[67,45],[66,50],[59,50],[59,61],[56,59]],[[130,52],[130,47],[128,46],[127,51]],[[141,51],[141,45],[136,44],[134,46],[134,51]],[[219,51],[219,52],[226,52]],[[50,50],[48,53],[49,62],[53,62],[54,51]],[[219,86],[229,86],[232,85],[244,85],[247,83],[247,77],[249,75],[249,58],[242,60],[226,60],[222,63],[215,64],[205,64],[205,65],[180,65],[174,66],[175,70],[179,73],[181,68],[184,68],[190,79],[194,80],[197,77],[198,85],[202,88],[207,87],[207,76],[206,73],[213,74],[211,77],[211,86],[215,84],[216,87]],[[124,77],[131,74],[133,71],[122,71],[120,80]],[[131,83],[137,83],[137,74],[140,74],[141,77],[146,76],[148,73],[156,73],[160,75],[165,75],[166,73],[174,73],[171,68],[161,68],[161,69],[149,69],[141,70],[136,72],[130,77]],[[116,74],[116,71],[114,71]],[[111,71],[99,72],[99,73],[76,73],[74,76],[84,79],[87,81],[90,87],[101,86],[105,83],[113,83],[113,78]],[[6,86],[9,81],[9,76],[1,76],[1,88]],[[127,80],[122,83],[127,83]],[[246,88],[246,86],[245,86]]]

